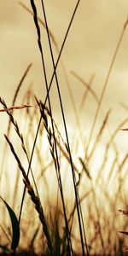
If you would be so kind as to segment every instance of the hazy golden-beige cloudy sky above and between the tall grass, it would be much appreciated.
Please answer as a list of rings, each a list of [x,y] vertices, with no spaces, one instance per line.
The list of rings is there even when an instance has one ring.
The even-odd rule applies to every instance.
[[[31,9],[30,1],[22,0],[21,2],[25,3]],[[36,1],[36,3],[38,16],[44,20],[40,1]],[[44,1],[49,29],[53,32],[59,49],[61,49],[61,44],[76,3],[77,1],[74,0]],[[101,96],[103,84],[108,74],[108,68],[110,67],[127,15],[127,0],[80,1],[79,9],[73,20],[73,26],[68,34],[67,42],[61,55],[67,70],[74,102],[78,110],[84,94],[84,85],[73,76],[73,73],[77,73],[86,83],[89,83],[91,76],[94,75],[92,88],[95,90],[97,96]],[[49,80],[52,74],[52,65],[46,33],[43,28],[41,28],[41,35]],[[22,96],[31,83],[33,83],[34,94],[44,101],[44,75],[37,44],[37,32],[32,15],[29,15],[20,6],[19,1],[1,0],[0,38],[0,96],[6,101],[8,106],[11,106],[16,87],[26,67],[32,63],[32,68],[20,90],[17,104],[20,104]],[[119,102],[127,105],[127,45],[128,28],[125,30],[118,55],[113,64],[107,90],[102,99],[103,113],[107,113],[108,109],[112,108],[109,122],[111,131],[127,115],[125,109],[119,105]],[[54,45],[53,51],[56,60],[57,53]],[[61,64],[57,68],[57,74],[61,86],[61,96],[67,116],[67,124],[70,130],[73,131],[73,106]],[[51,101],[52,107],[55,109],[55,117],[56,119],[60,119],[60,107],[55,84],[53,84],[51,90]],[[82,109],[82,120],[84,120],[84,125],[86,124],[89,130],[95,112],[96,103],[92,96],[89,96],[86,102],[86,108]],[[99,127],[100,123],[98,121],[100,122],[100,117],[97,120]],[[1,114],[0,122],[2,124],[0,132],[3,136],[7,124],[5,113]],[[122,135],[120,141],[124,143]]]

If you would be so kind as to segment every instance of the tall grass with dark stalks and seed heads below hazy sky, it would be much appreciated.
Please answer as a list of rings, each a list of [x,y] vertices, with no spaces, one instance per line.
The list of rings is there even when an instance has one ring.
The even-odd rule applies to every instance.
[[[9,116],[9,124],[7,124],[7,131],[4,135],[5,145],[3,147],[0,183],[2,186],[4,176],[6,182],[10,183],[5,188],[8,190],[9,196],[4,200],[8,202],[11,198],[9,215],[14,230],[12,234],[9,215],[2,204],[1,211],[4,218],[2,218],[0,225],[2,234],[1,252],[12,255],[27,255],[27,253],[29,255],[61,256],[124,255],[127,253],[127,247],[125,236],[121,234],[127,235],[128,223],[127,218],[122,218],[119,212],[127,215],[127,199],[122,192],[125,189],[127,178],[127,154],[120,160],[115,137],[127,124],[128,119],[125,118],[120,121],[111,133],[108,129],[108,121],[112,109],[107,109],[104,114],[102,99],[113,71],[113,64],[118,55],[120,44],[124,38],[128,20],[125,21],[114,50],[100,96],[91,86],[93,77],[88,84],[78,73],[71,72],[73,78],[77,79],[79,84],[84,85],[84,96],[82,96],[78,109],[74,101],[72,86],[68,80],[67,68],[65,68],[61,59],[61,53],[80,1],[77,2],[74,8],[60,50],[53,33],[49,30],[44,2],[41,1],[44,21],[38,18],[36,3],[33,0],[30,3],[32,10],[28,9],[23,3],[20,3],[20,5],[23,9],[26,9],[28,15],[33,16],[38,35],[37,47],[41,55],[46,95],[43,102],[42,99],[34,96],[30,87],[25,91],[20,105],[16,105],[20,88],[32,67],[32,64],[30,64],[15,90],[12,106],[8,107],[3,98],[0,97],[2,105],[0,112],[7,113]],[[47,77],[40,26],[44,27],[49,43],[48,51],[53,66],[51,79]],[[57,61],[55,61],[53,45],[58,54]],[[60,62],[76,119],[74,137],[69,136],[63,97],[61,96],[57,70]],[[56,124],[52,108],[52,94],[50,91],[54,79],[58,96],[56,101],[59,102],[61,109],[61,124]],[[82,110],[84,112],[84,105],[87,103],[88,96],[92,96],[92,100],[96,103],[96,113],[93,116],[90,132],[84,137],[81,127],[83,121],[81,112]],[[125,110],[127,111],[126,108]],[[20,119],[19,116],[15,119],[15,113],[18,111],[20,112]],[[97,131],[95,139],[92,140],[100,113],[102,114],[102,125]],[[21,121],[23,121],[23,127]],[[124,130],[121,132],[127,131],[127,129]],[[16,137],[15,140],[14,137]],[[105,137],[105,143],[103,137]],[[84,143],[84,140],[86,143]],[[100,147],[102,147],[102,152],[99,151]],[[80,154],[79,148],[82,148]],[[15,172],[15,182],[10,182],[10,174],[4,173],[8,166],[9,157],[11,157],[11,169]],[[97,157],[100,157],[98,166],[96,166]],[[93,169],[96,170],[95,175]],[[12,171],[9,170],[9,172]],[[10,185],[12,189],[10,189]],[[120,207],[125,207],[125,210],[119,209]],[[15,239],[18,236],[14,223],[20,227],[20,243],[18,246],[15,243],[15,246],[11,248],[12,236],[15,236]],[[120,231],[121,234],[119,233],[120,229],[123,230]]]

